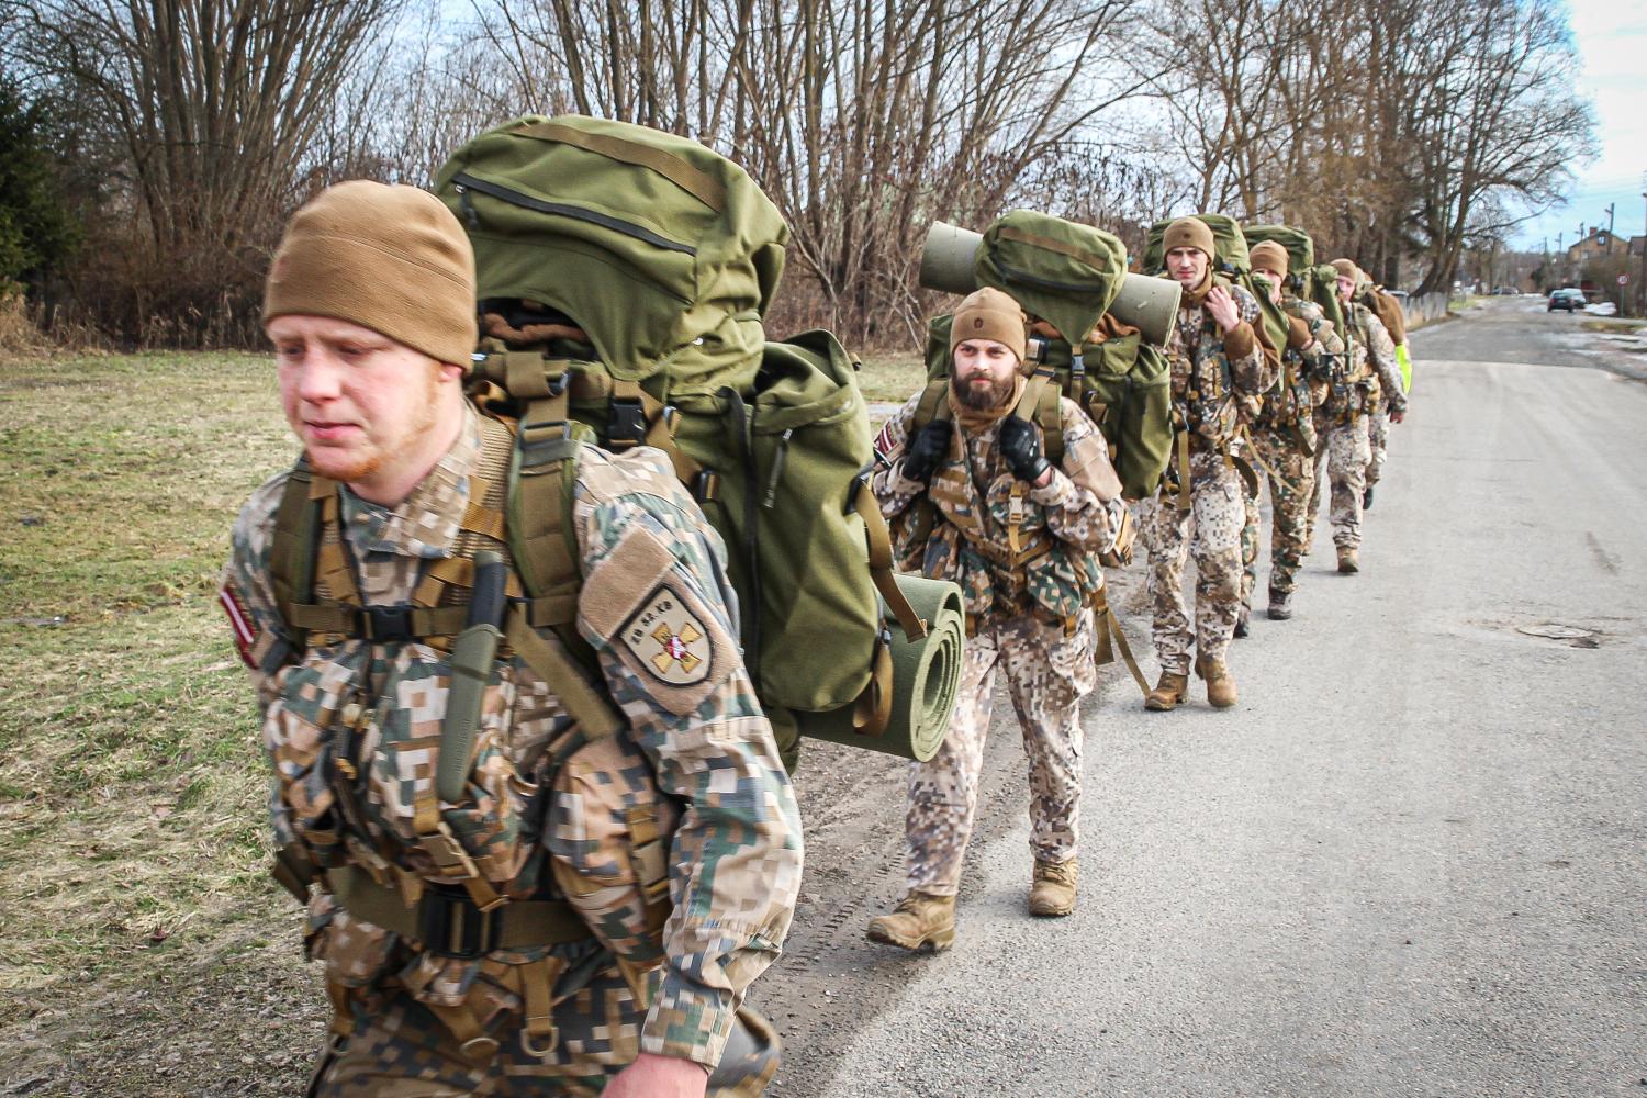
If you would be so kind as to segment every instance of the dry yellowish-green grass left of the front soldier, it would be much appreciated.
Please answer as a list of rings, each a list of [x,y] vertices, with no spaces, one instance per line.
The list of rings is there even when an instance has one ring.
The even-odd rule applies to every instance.
[[[12,1016],[267,917],[265,780],[214,593],[236,510],[292,448],[255,356],[0,364],[0,425]]]

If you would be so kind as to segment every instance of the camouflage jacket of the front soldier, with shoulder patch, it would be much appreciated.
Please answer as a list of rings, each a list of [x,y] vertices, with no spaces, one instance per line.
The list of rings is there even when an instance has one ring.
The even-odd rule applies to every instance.
[[[471,410],[458,443],[399,507],[339,489],[341,537],[367,604],[408,603],[427,568],[453,555],[478,454],[479,418]],[[313,840],[311,830],[324,826],[313,817],[315,795],[324,787],[318,770],[333,724],[328,710],[338,706],[341,683],[369,683],[376,706],[361,751],[372,770],[362,812],[376,830],[395,826],[384,807],[408,800],[400,787],[432,780],[428,742],[438,742],[451,675],[448,657],[417,640],[351,639],[295,652],[280,663],[290,635],[270,588],[268,555],[285,481],[280,474],[264,484],[240,512],[224,575],[224,603],[252,668],[264,744],[275,767],[278,844]],[[651,448],[624,456],[586,448],[573,489],[573,523],[583,575],[576,629],[593,647],[628,724],[619,739],[639,749],[629,757],[644,759],[657,789],[682,807],[669,859],[674,910],[664,932],[667,961],[641,1049],[715,1065],[736,1003],[777,956],[794,912],[802,858],[794,792],[738,650],[736,614],[723,586],[725,547],[682,491],[667,456]],[[705,658],[692,668],[685,662],[660,667],[660,642],[632,627],[665,604],[685,612],[687,626],[679,632],[703,649]],[[405,752],[382,757],[395,726],[422,736],[422,765]],[[522,792],[548,790],[558,765],[581,744],[581,733],[547,683],[519,655],[507,655],[499,662],[499,682],[486,693],[471,789],[481,790],[478,797],[491,790],[517,800]],[[501,785],[499,774],[507,777]],[[634,782],[636,775],[614,780]],[[550,838],[540,836],[545,846]],[[351,864],[354,856],[372,856],[354,836],[348,849]],[[547,872],[532,889],[537,897],[555,896]],[[593,938],[499,950],[478,960],[420,951],[351,919],[324,889],[311,900],[310,925],[310,951],[326,960],[329,979],[369,986],[392,975],[420,999],[461,1003],[483,1019],[519,1006],[509,981],[497,976],[509,965],[548,953],[576,966],[600,953]]]

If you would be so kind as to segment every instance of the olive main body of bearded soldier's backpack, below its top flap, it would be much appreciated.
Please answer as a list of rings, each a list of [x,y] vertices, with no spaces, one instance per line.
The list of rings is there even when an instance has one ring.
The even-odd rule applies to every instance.
[[[945,314],[927,324],[927,380],[949,377],[950,323]],[[1072,370],[1074,352],[1062,339],[1038,336],[1031,341],[1031,359],[1099,425],[1122,481],[1122,495],[1153,495],[1173,451],[1173,375],[1166,354],[1135,329],[1125,329],[1102,342],[1089,341],[1079,374]],[[1041,430],[1051,438],[1057,425],[1043,423]],[[1061,458],[1051,453],[1051,443],[1047,458],[1054,464]]]

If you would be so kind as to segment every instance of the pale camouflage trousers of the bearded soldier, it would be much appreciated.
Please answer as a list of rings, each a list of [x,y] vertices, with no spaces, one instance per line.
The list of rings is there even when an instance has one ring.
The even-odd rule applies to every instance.
[[[1029,849],[1041,861],[1075,856],[1080,835],[1080,700],[1097,685],[1092,611],[1075,632],[1034,617],[985,626],[967,640],[960,693],[944,746],[909,770],[909,891],[955,896],[978,807],[983,742],[995,706],[995,670],[1006,690],[1029,756]]]

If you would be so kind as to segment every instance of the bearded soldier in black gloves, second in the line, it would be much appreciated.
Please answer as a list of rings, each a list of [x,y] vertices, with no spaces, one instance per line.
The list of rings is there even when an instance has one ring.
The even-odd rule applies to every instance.
[[[906,950],[944,950],[955,938],[996,667],[1029,756],[1029,910],[1075,909],[1079,703],[1097,678],[1090,603],[1103,586],[1097,553],[1120,528],[1120,479],[1103,436],[1072,400],[1059,400],[1062,459],[1047,461],[1041,428],[1015,413],[1029,384],[1024,342],[1013,298],[967,296],[950,328],[947,407],[914,430],[917,393],[876,440],[875,492],[899,530],[899,551],[927,576],[960,584],[970,635],[949,736],[909,775],[907,892],[870,920],[873,942]]]

